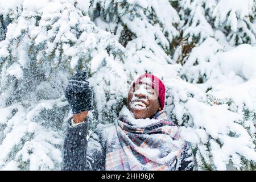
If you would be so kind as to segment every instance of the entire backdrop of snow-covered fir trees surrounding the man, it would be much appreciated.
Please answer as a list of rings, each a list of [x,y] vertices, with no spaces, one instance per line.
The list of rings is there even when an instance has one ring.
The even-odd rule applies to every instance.
[[[153,73],[195,170],[255,170],[255,36],[255,0],[0,0],[0,169],[61,169],[64,88],[86,70],[91,130]]]

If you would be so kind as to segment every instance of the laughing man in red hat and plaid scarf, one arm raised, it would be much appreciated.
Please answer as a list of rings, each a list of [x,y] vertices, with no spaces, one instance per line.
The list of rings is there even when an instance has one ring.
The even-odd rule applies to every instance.
[[[119,118],[99,124],[86,140],[92,109],[86,77],[77,73],[65,89],[73,117],[64,141],[64,170],[192,170],[191,148],[180,138],[180,127],[166,118],[166,88],[159,78],[139,76]]]

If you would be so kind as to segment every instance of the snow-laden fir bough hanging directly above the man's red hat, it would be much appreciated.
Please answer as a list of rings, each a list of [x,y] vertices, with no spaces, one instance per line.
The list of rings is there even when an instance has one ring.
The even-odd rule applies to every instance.
[[[89,15],[98,27],[112,32],[125,47],[127,75],[154,72],[159,77],[176,75],[179,65],[171,65],[172,40],[179,16],[169,1],[94,0]],[[170,77],[172,74],[170,74]]]

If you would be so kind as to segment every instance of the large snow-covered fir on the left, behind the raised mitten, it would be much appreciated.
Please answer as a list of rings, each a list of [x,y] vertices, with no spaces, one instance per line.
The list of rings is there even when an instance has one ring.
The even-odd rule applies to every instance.
[[[90,75],[95,113],[118,102],[109,82],[113,75],[125,78],[123,47],[90,22],[88,6],[72,0],[1,1],[0,169],[61,168],[63,121],[71,116],[63,90],[76,71]]]

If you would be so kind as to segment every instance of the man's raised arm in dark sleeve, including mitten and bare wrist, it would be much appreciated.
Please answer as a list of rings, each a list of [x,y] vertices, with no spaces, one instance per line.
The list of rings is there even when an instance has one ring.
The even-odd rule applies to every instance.
[[[71,77],[65,88],[65,97],[72,109],[63,146],[64,170],[85,170],[88,134],[88,111],[92,110],[92,89],[86,81],[86,72]]]

